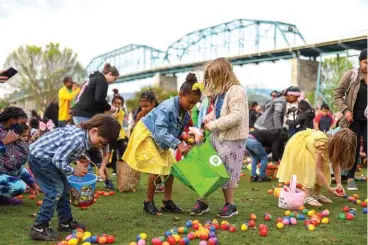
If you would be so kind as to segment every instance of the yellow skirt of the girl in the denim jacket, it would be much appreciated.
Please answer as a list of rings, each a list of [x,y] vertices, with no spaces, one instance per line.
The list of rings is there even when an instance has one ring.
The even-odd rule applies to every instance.
[[[171,151],[161,149],[141,121],[134,127],[122,160],[136,171],[158,175],[170,174],[176,163]]]

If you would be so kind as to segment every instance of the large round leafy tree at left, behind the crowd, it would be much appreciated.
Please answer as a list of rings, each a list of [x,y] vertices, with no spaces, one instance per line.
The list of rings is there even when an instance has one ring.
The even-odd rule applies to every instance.
[[[73,50],[62,49],[58,43],[49,43],[45,48],[27,45],[13,51],[7,57],[5,66],[18,70],[18,75],[9,81],[11,86],[31,95],[37,107],[44,110],[56,100],[64,77],[85,77],[86,73],[77,57]]]

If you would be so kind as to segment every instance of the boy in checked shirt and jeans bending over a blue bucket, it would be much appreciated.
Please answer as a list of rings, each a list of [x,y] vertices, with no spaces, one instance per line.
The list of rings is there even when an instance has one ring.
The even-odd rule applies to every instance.
[[[120,124],[111,116],[98,114],[78,126],[57,128],[48,132],[30,146],[28,164],[45,193],[43,204],[31,229],[35,240],[58,240],[59,235],[49,225],[55,209],[59,216],[59,231],[71,232],[85,229],[73,219],[70,209],[70,194],[67,175],[84,176],[86,164],[70,166],[92,147],[101,148],[115,142]]]

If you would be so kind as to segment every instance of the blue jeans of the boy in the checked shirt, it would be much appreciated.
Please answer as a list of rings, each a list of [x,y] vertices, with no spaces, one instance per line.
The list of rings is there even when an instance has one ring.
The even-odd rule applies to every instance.
[[[35,224],[49,223],[55,209],[58,212],[60,223],[69,222],[72,219],[72,211],[70,208],[69,183],[66,175],[56,168],[51,160],[43,160],[29,155],[28,164],[42,192],[45,194]]]

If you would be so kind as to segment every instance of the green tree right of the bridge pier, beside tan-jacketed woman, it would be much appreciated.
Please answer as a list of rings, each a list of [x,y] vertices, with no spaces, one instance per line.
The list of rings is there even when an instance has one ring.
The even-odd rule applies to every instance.
[[[324,97],[324,102],[334,111],[337,110],[333,103],[334,90],[344,73],[352,68],[353,64],[348,57],[334,57],[323,60],[320,91]]]

